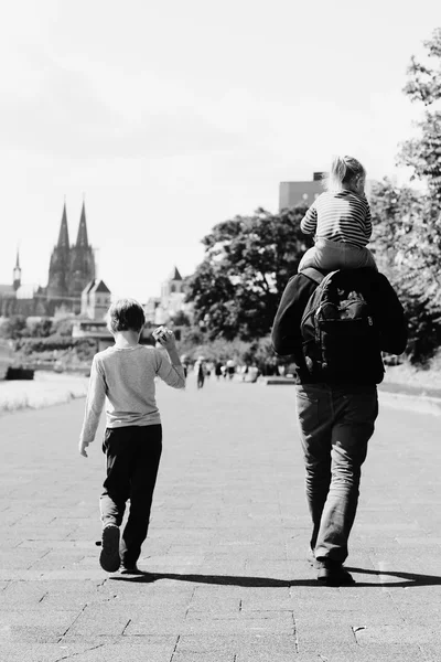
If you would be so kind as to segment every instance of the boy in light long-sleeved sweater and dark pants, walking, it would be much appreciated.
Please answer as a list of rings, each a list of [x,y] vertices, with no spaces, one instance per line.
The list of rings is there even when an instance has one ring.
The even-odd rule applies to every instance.
[[[185,376],[172,331],[160,327],[154,332],[170,361],[160,350],[139,344],[146,317],[138,301],[120,299],[110,306],[107,316],[115,345],[94,356],[79,452],[87,458],[86,448],[94,441],[106,402],[103,451],[107,456],[107,478],[100,496],[99,563],[108,573],[121,569],[137,574],[162,450],[154,377],[174,388],[184,388]],[[120,538],[128,500],[130,511]]]

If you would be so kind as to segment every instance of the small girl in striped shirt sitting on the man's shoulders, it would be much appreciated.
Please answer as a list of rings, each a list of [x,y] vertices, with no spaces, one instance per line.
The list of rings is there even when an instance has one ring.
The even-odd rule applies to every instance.
[[[369,203],[365,195],[366,171],[353,157],[335,157],[327,177],[327,191],[312,203],[300,223],[315,245],[302,257],[299,271],[319,269],[377,268],[366,244],[372,235]]]

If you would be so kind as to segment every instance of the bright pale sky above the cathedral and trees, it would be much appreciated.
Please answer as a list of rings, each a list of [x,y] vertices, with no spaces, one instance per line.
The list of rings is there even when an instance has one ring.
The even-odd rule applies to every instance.
[[[47,284],[83,200],[114,298],[160,293],[214,225],[277,212],[281,181],[333,154],[408,173],[402,94],[441,26],[434,0],[17,0],[0,21],[0,282]]]

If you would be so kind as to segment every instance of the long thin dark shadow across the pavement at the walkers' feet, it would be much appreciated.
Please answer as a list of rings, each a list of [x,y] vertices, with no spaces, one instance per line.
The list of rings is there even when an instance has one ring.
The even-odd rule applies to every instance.
[[[346,566],[345,566],[346,567]],[[435,575],[416,575],[411,573],[380,572],[365,568],[346,567],[351,573],[376,575],[377,577],[397,577],[398,581],[356,581],[351,588],[358,586],[388,586],[390,588],[410,588],[411,586],[435,586],[441,584],[441,577]],[[244,586],[248,588],[290,588],[291,586],[312,586],[322,588],[323,585],[315,579],[272,579],[271,577],[236,577],[229,575],[179,575],[174,573],[143,573],[142,575],[114,575],[116,581],[131,581],[135,584],[152,584],[160,579],[174,579],[176,581],[194,581],[196,584],[217,584],[218,586]]]

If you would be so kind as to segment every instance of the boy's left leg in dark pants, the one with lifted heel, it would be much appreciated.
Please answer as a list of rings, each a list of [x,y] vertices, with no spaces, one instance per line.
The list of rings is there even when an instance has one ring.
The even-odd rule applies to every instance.
[[[99,500],[103,525],[120,526],[130,494],[130,465],[133,452],[133,426],[107,428],[103,450],[107,456],[107,478]]]

